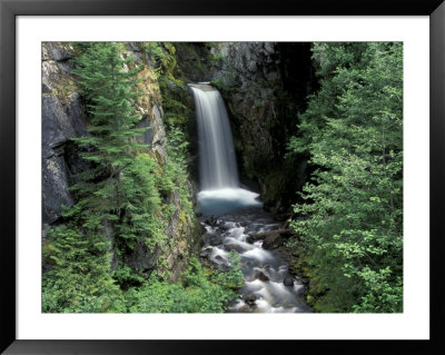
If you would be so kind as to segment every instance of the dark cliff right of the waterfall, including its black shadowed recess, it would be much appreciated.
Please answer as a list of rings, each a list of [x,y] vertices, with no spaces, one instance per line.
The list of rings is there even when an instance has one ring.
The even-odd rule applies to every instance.
[[[284,214],[306,177],[306,160],[284,159],[298,112],[315,85],[308,43],[225,42],[216,46],[212,83],[225,97],[241,179],[265,207]]]

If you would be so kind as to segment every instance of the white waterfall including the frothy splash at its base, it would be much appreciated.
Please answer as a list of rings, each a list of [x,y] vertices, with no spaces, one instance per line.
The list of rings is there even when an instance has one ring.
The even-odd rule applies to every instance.
[[[199,137],[198,211],[220,215],[238,208],[260,207],[258,194],[239,186],[230,125],[218,90],[190,85],[195,97]]]

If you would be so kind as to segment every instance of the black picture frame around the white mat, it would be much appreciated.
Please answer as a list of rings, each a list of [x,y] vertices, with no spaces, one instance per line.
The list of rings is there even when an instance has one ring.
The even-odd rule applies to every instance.
[[[428,16],[429,118],[429,341],[22,341],[16,337],[16,17],[17,16]],[[439,288],[444,270],[445,3],[444,0],[0,0],[1,329],[4,354],[233,354],[277,351],[444,354]],[[425,157],[427,159],[427,157]],[[427,238],[427,236],[425,236]],[[422,307],[423,305],[419,305]]]

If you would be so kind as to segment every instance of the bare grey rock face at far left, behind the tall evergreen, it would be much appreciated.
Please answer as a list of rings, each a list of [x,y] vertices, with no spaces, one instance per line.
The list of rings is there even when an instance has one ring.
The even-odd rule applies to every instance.
[[[72,57],[68,45],[42,43],[42,223],[57,221],[62,205],[72,206],[68,187],[73,175],[88,166],[75,157],[70,139],[86,134],[85,108],[73,91],[63,105],[53,93],[62,78],[69,76],[66,65]]]

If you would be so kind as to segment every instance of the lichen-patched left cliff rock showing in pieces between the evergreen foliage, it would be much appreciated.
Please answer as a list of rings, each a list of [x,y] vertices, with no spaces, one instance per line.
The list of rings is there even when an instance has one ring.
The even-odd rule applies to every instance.
[[[72,206],[73,198],[69,187],[76,181],[76,176],[88,169],[88,164],[79,156],[79,149],[71,138],[88,135],[89,118],[82,96],[79,93],[76,77],[71,70],[70,59],[77,56],[69,43],[42,43],[42,235],[53,225],[62,224],[62,206]],[[162,98],[155,73],[152,59],[142,50],[139,43],[126,43],[121,56],[135,56],[136,62],[144,65],[139,73],[139,90],[144,92],[135,102],[135,109],[140,114],[139,127],[149,129],[138,138],[147,145],[147,151],[156,157],[160,167],[167,157],[166,131],[164,126]],[[188,198],[195,195],[192,185],[188,184]],[[121,262],[132,269],[146,273],[156,267],[159,259],[161,274],[169,274],[174,280],[187,265],[187,255],[196,247],[199,239],[199,224],[195,217],[186,213],[180,204],[178,190],[172,190],[166,197],[166,203],[176,210],[169,220],[165,220],[165,233],[169,244],[162,249],[149,250],[142,243],[132,254],[121,257]],[[160,216],[159,218],[166,218]],[[113,228],[105,226],[105,234],[113,243]],[[112,268],[117,266],[118,257],[112,256]],[[44,263],[43,263],[44,268]]]

